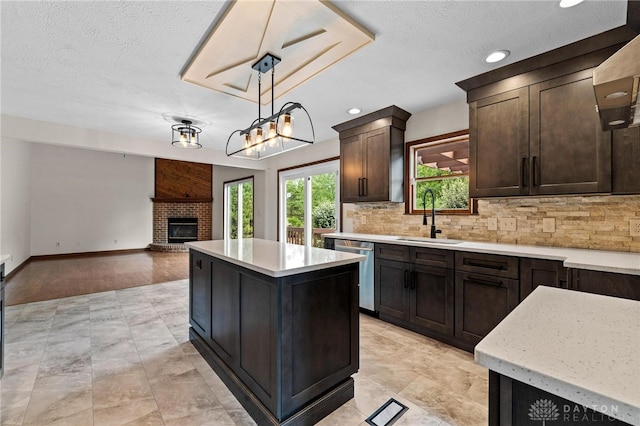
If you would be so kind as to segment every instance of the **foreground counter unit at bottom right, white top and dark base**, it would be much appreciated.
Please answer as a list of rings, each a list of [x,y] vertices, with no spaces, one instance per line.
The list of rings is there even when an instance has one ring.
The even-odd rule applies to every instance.
[[[475,348],[489,424],[640,425],[639,357],[640,302],[538,286]]]

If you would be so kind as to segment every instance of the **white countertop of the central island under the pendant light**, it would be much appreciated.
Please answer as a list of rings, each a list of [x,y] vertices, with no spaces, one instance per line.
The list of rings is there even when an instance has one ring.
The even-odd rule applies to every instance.
[[[305,247],[258,238],[185,243],[194,250],[270,277],[284,277],[347,265],[365,259],[359,254]]]

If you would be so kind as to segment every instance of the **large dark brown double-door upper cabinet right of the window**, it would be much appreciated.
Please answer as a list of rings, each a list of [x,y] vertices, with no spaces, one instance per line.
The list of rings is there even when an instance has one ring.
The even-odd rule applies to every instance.
[[[638,192],[626,159],[637,136],[612,145],[592,83],[634,35],[620,27],[457,83],[469,103],[469,195]]]

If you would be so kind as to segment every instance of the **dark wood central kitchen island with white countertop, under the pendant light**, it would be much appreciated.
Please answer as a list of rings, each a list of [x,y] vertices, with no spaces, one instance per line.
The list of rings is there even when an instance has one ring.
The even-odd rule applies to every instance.
[[[315,424],[353,397],[364,256],[255,238],[186,245],[191,342],[258,424]]]

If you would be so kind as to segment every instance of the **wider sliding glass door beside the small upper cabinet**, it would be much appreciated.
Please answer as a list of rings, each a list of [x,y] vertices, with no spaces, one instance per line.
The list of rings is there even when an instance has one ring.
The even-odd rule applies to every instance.
[[[322,234],[338,226],[339,162],[329,161],[279,172],[280,241],[322,246]]]

